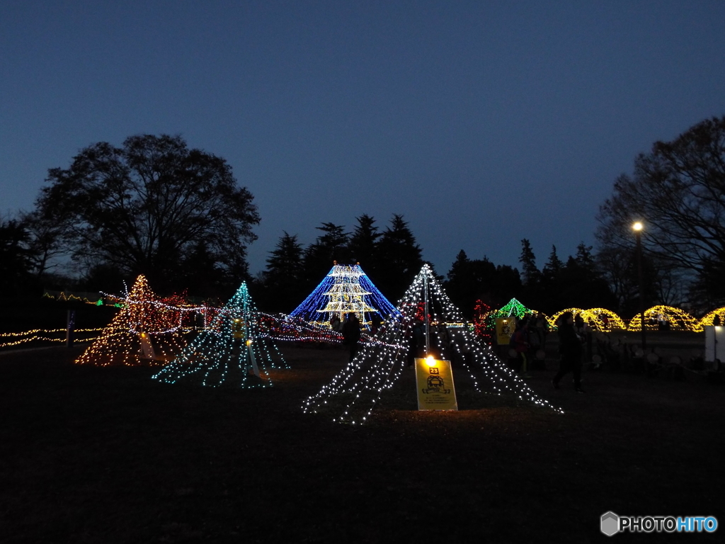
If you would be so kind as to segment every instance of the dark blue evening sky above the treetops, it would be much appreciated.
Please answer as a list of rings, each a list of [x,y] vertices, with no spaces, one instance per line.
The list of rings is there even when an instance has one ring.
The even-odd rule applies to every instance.
[[[637,153],[725,114],[724,28],[722,1],[5,0],[0,213],[89,144],[172,133],[254,194],[253,273],[363,213],[439,273],[525,237],[542,265]]]

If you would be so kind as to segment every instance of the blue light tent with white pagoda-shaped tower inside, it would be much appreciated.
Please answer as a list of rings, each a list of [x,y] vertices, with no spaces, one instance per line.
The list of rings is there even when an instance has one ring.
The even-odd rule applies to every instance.
[[[360,323],[368,328],[374,314],[378,314],[378,321],[384,321],[397,313],[359,264],[335,264],[312,294],[289,315],[329,325],[333,316],[344,321],[348,313],[355,313]]]

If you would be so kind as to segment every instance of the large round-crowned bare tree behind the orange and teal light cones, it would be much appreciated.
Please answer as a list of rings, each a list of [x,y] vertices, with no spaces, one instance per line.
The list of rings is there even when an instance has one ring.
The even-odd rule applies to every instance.
[[[93,144],[70,168],[49,170],[47,181],[38,214],[62,228],[65,250],[88,268],[145,273],[157,289],[178,289],[186,287],[179,269],[199,263],[203,247],[233,279],[229,289],[248,276],[247,244],[260,221],[252,194],[223,158],[188,149],[180,136]]]

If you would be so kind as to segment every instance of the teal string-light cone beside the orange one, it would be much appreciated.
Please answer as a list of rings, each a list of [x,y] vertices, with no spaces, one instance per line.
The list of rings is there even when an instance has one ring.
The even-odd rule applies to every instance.
[[[265,334],[265,323],[260,317],[247,284],[241,284],[211,325],[153,378],[167,384],[197,379],[211,387],[270,387],[268,368],[289,366]],[[273,353],[281,363],[274,363]]]

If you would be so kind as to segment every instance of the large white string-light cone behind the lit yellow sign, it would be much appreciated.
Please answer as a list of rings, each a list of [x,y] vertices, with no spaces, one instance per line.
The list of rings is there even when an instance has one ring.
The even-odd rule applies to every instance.
[[[423,345],[422,353],[415,354],[413,328],[425,328],[426,308],[429,347]],[[415,356],[426,351],[435,358],[460,360],[477,392],[510,394],[563,413],[531,390],[466,326],[460,310],[452,305],[428,265],[415,277],[397,310],[381,326],[374,342],[365,345],[330,384],[305,401],[305,413],[327,413],[336,422],[363,424],[381,395],[394,386]]]

